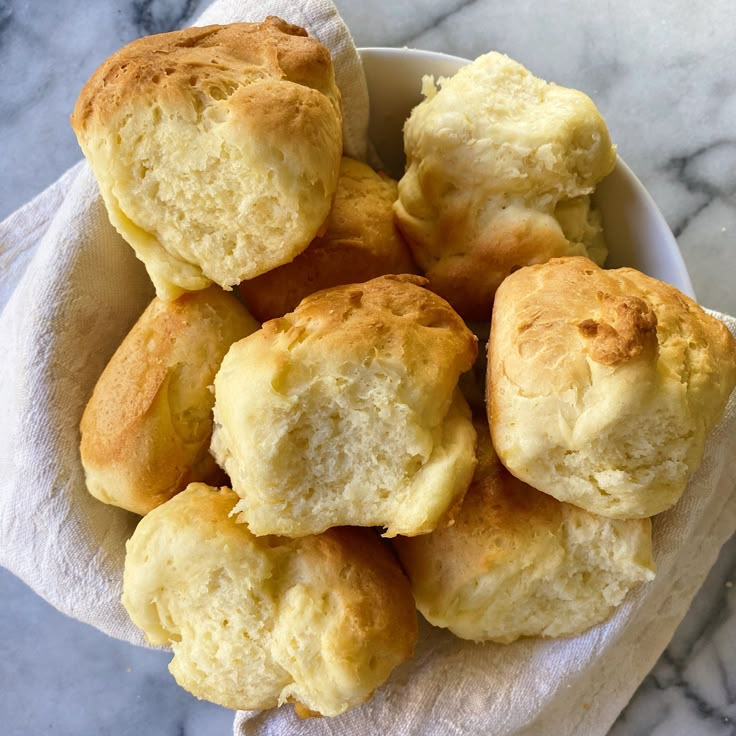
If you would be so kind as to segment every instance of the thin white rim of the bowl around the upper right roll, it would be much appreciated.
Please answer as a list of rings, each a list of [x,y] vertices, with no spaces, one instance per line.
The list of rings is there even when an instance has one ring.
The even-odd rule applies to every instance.
[[[365,61],[366,59],[370,61],[372,57],[395,57],[398,61],[401,59],[406,59],[407,56],[413,56],[417,59],[423,58],[428,62],[433,60],[443,62],[449,61],[452,63],[460,63],[463,65],[469,64],[471,62],[470,59],[465,59],[462,56],[445,54],[441,51],[427,51],[425,49],[409,48],[406,46],[403,48],[395,48],[391,46],[361,46],[358,47],[357,51],[361,61]],[[670,229],[670,226],[667,224],[667,221],[665,220],[664,215],[657,206],[657,203],[654,201],[654,198],[646,189],[646,187],[641,183],[639,178],[628,166],[628,164],[618,154],[616,154],[616,169],[617,173],[625,180],[626,184],[636,192],[637,196],[644,203],[646,209],[650,212],[658,229],[661,231],[663,239],[666,242],[666,247],[668,251],[667,255],[670,259],[670,266],[677,273],[680,281],[679,285],[676,288],[697,301],[692,279],[690,278],[687,266],[685,265],[685,260],[682,257],[680,247],[677,244],[677,239]]]

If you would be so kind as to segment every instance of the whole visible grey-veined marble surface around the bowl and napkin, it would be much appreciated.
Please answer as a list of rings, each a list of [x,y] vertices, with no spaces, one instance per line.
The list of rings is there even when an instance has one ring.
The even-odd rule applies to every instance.
[[[0,217],[80,157],[68,125],[96,65],[206,0],[0,0]],[[498,49],[590,94],[678,238],[702,303],[736,313],[736,21],[730,0],[338,0],[361,46]],[[0,732],[226,734],[231,713],[0,570]],[[550,731],[554,733],[553,730]],[[611,731],[736,734],[736,539]]]

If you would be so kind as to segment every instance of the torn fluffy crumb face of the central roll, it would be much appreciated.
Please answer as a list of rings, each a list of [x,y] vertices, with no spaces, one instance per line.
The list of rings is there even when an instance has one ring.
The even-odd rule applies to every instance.
[[[405,380],[375,360],[345,366],[340,375],[317,375],[296,391],[292,387],[257,464],[249,468],[268,503],[248,497],[236,507],[251,528],[307,534],[330,526],[380,525],[410,532],[426,524],[427,516],[436,522],[464,490],[444,455],[469,455],[472,472],[474,435],[453,446],[444,434],[447,415],[427,427],[416,402],[403,396]],[[462,398],[457,401],[464,405]],[[456,413],[449,412],[451,425]],[[446,468],[439,470],[445,476],[439,488],[431,481],[415,487],[420,471],[441,463]],[[280,514],[274,514],[275,505]]]

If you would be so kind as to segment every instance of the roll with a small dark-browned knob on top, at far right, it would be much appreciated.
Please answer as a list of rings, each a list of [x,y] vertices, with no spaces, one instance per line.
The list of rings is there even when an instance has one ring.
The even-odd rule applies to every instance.
[[[673,506],[736,384],[736,344],[692,299],[631,268],[555,259],[496,295],[493,444],[518,478],[612,518]]]

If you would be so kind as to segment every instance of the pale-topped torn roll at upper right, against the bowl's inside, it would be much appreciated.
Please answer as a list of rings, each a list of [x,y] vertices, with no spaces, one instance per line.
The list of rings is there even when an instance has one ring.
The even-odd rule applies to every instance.
[[[606,124],[582,92],[490,53],[441,79],[404,127],[396,220],[430,288],[489,320],[517,268],[555,256],[606,258],[589,195],[613,169]]]

